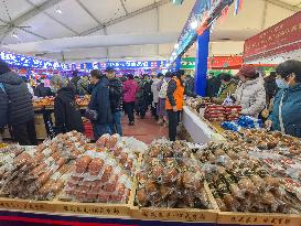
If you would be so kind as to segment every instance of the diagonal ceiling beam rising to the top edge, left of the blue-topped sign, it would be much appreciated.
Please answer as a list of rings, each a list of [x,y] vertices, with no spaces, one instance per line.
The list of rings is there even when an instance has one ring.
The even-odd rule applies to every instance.
[[[107,28],[107,26],[114,25],[114,24],[116,24],[116,23],[120,23],[120,22],[122,22],[122,21],[125,21],[125,20],[128,20],[128,19],[130,19],[130,18],[133,18],[133,17],[136,17],[136,15],[139,15],[139,14],[142,14],[142,13],[144,13],[144,12],[151,11],[151,10],[153,10],[153,9],[155,9],[155,8],[159,8],[159,7],[161,7],[161,6],[163,6],[163,4],[166,4],[166,3],[170,3],[170,0],[161,0],[161,1],[159,1],[159,2],[154,2],[154,3],[152,3],[152,4],[149,4],[149,6],[147,6],[147,7],[141,8],[141,9],[139,9],[139,10],[136,10],[136,11],[133,11],[133,12],[130,12],[129,14],[126,14],[126,15],[122,15],[122,17],[119,17],[119,18],[116,18],[116,19],[110,20],[110,21],[108,21],[108,22],[106,22],[106,23],[103,23],[103,24],[97,25],[97,26],[95,26],[95,28],[93,28],[93,29],[89,29],[89,30],[87,30],[87,31],[80,33],[80,36],[85,36],[85,35],[92,34],[92,33],[97,32],[97,31],[99,31],[99,30],[103,30],[103,29],[105,29],[105,28]]]

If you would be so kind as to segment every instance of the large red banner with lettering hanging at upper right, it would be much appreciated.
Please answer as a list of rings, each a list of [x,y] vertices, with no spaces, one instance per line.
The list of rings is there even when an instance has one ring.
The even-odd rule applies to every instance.
[[[245,42],[245,62],[300,49],[301,11]]]

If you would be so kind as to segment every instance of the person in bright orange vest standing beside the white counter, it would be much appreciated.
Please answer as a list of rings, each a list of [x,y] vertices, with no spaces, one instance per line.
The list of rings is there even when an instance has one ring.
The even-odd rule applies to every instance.
[[[184,71],[173,73],[173,77],[168,87],[165,109],[169,116],[169,137],[171,141],[175,141],[176,127],[180,122],[180,112],[183,110],[184,79]]]

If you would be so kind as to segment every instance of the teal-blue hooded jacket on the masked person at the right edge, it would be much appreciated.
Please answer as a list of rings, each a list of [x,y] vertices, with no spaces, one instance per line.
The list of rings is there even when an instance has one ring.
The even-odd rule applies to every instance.
[[[279,108],[281,99],[282,107]],[[301,138],[301,84],[280,89],[275,97],[273,108],[269,119],[272,121],[272,130],[281,131],[279,110],[281,110],[283,132]]]

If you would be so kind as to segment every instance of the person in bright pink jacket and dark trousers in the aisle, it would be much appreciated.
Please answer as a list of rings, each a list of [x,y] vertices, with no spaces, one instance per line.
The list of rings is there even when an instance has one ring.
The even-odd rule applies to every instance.
[[[129,126],[135,125],[133,109],[138,90],[139,87],[137,82],[133,79],[133,75],[129,74],[128,80],[123,83],[123,103],[126,112],[129,118]]]

